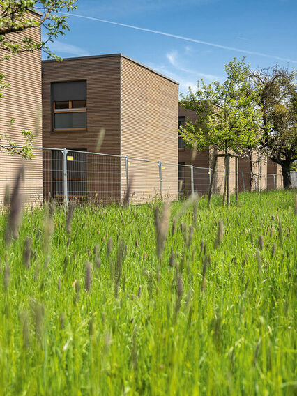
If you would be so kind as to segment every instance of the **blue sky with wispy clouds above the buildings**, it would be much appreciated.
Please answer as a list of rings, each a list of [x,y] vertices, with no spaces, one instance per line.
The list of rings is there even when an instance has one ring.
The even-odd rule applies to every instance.
[[[254,68],[297,68],[297,0],[79,0],[77,6],[73,14],[209,43],[69,17],[70,32],[51,45],[63,57],[122,52],[176,79],[182,93],[197,79],[224,79],[224,64],[234,56],[246,54]]]

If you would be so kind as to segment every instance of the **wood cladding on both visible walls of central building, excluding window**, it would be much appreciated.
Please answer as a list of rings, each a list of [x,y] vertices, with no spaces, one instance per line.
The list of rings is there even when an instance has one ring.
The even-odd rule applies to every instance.
[[[52,84],[82,80],[86,81],[86,130],[54,132]],[[98,134],[104,128],[100,153],[177,162],[177,121],[178,84],[122,54],[43,62],[44,147],[95,152]],[[53,192],[54,168],[61,167],[61,160],[58,164],[52,158],[49,150],[44,162],[45,196]],[[125,160],[89,153],[85,158],[88,198],[123,199],[127,188]],[[156,195],[158,172],[150,162],[129,160],[129,174],[134,174],[135,180],[134,201]],[[170,194],[177,195],[177,168],[169,177]]]

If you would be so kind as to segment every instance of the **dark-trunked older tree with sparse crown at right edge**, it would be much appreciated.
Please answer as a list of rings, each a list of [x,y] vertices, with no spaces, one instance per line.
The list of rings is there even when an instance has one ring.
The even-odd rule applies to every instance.
[[[284,188],[290,188],[290,167],[297,160],[296,72],[274,66],[252,72],[250,79],[262,114],[259,149],[282,167]]]

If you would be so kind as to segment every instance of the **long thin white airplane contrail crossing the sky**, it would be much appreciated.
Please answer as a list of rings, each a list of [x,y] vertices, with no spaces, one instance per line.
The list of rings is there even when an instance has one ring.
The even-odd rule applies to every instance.
[[[177,34],[166,33],[165,31],[146,29],[144,27],[139,27],[139,26],[134,26],[134,25],[129,25],[129,24],[122,24],[122,23],[119,23],[119,22],[108,21],[108,20],[101,20],[100,18],[86,17],[85,15],[67,14],[67,13],[59,13],[59,14],[65,15],[65,16],[68,16],[68,17],[78,17],[78,18],[84,18],[85,20],[93,20],[93,21],[98,21],[98,22],[104,22],[104,23],[107,23],[107,24],[114,24],[116,26],[128,27],[130,29],[136,29],[136,30],[140,30],[140,31],[147,31],[148,33],[155,33],[155,34],[160,34],[162,36],[178,38],[179,40],[190,41],[191,43],[197,43],[197,44],[202,44],[202,45],[208,45],[208,46],[211,46],[211,47],[222,48],[222,50],[241,52],[243,54],[258,55],[258,56],[264,56],[266,58],[277,59],[278,61],[286,61],[286,62],[291,62],[291,63],[297,63],[297,61],[294,61],[293,59],[282,58],[281,56],[264,54],[263,52],[241,50],[241,48],[228,47],[227,45],[220,45],[220,44],[210,43],[209,41],[197,40],[195,38],[189,38],[189,37],[185,37],[185,36],[178,36]]]

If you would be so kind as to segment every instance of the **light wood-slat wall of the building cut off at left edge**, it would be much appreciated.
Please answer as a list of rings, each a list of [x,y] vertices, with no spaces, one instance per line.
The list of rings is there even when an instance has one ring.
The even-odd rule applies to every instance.
[[[38,20],[40,15],[31,13]],[[21,33],[11,33],[13,40],[30,36],[40,41],[40,28],[28,29]],[[0,58],[6,53],[1,50]],[[34,145],[42,145],[41,131],[41,54],[40,51],[21,52],[10,55],[10,59],[1,61],[1,73],[6,75],[5,81],[10,87],[4,89],[0,98],[0,135],[8,134],[9,138],[22,146],[24,137],[22,130],[31,130],[36,134]],[[10,120],[15,119],[12,126]],[[8,144],[3,138],[1,144]],[[43,196],[42,152],[34,151],[34,158],[24,161],[19,155],[8,155],[0,152],[0,201],[6,185],[13,187],[15,173],[22,163],[25,163],[22,190],[27,204],[40,203]]]

